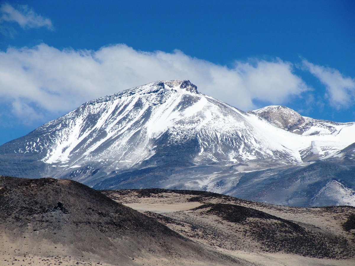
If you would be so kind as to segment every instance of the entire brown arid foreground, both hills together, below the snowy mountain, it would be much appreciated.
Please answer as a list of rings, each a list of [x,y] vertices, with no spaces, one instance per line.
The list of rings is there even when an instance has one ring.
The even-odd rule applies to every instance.
[[[354,207],[0,176],[0,265],[354,265],[354,232]]]

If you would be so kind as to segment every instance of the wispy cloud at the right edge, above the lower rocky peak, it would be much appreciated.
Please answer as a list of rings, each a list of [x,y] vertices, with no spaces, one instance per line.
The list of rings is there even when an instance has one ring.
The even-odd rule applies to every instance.
[[[345,77],[338,70],[314,65],[302,60],[303,66],[317,77],[327,89],[327,98],[336,109],[348,108],[355,100],[355,79]]]

